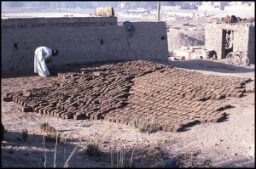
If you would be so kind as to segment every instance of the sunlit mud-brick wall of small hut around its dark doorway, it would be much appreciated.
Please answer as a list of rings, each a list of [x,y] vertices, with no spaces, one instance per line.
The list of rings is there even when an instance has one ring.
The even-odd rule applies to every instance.
[[[250,64],[254,64],[255,57],[255,26],[248,24],[207,24],[205,26],[205,48],[215,50],[218,59],[224,59],[224,30],[234,32],[233,51],[247,51]]]

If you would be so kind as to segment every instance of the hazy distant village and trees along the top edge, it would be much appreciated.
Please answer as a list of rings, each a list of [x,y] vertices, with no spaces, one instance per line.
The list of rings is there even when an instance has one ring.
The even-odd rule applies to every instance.
[[[155,1],[155,2],[99,2],[99,1],[87,1],[87,2],[2,2],[2,8],[14,8],[14,7],[33,7],[33,8],[98,8],[111,6],[116,9],[156,9],[158,3],[160,3],[160,8],[163,10],[170,9],[188,9],[188,10],[198,10],[198,11],[214,11],[214,10],[234,10],[237,9],[247,9],[253,10],[255,8],[254,1]]]

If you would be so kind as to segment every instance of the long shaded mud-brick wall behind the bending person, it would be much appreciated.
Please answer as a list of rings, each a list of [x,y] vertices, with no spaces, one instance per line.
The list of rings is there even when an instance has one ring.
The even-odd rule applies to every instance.
[[[59,49],[48,66],[109,60],[167,60],[165,22],[137,22],[128,37],[116,17],[2,20],[2,71],[33,72],[39,46]]]

